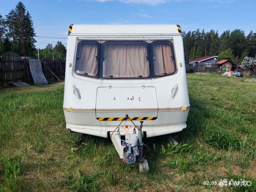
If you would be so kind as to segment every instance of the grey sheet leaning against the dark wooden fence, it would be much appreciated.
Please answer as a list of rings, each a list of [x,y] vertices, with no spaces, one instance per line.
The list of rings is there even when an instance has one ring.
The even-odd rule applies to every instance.
[[[43,70],[41,60],[39,59],[28,59],[30,63],[30,71],[33,77],[33,80],[36,84],[48,84],[46,80]]]

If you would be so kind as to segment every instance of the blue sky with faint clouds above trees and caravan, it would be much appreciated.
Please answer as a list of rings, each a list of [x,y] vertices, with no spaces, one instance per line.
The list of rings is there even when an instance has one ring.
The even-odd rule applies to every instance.
[[[37,36],[67,37],[71,23],[180,24],[182,31],[204,28],[256,32],[256,0],[22,0]],[[0,14],[18,0],[1,0]],[[66,39],[36,37],[36,48]]]

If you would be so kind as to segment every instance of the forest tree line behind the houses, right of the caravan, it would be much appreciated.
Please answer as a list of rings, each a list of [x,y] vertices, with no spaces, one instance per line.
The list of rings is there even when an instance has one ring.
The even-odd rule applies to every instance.
[[[210,30],[182,32],[184,51],[188,60],[217,55],[219,59],[231,59],[241,63],[245,57],[256,57],[256,33],[250,31],[246,36],[240,29],[226,30],[219,35]]]

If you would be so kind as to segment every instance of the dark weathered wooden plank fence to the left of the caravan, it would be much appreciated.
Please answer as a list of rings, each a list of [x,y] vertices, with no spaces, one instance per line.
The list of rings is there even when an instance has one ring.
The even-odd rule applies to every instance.
[[[47,81],[65,78],[65,61],[60,58],[56,58],[54,61],[51,58],[44,58],[41,61]],[[0,59],[0,87],[8,87],[14,82],[33,83],[29,61],[28,58],[22,58],[14,52],[6,52]]]

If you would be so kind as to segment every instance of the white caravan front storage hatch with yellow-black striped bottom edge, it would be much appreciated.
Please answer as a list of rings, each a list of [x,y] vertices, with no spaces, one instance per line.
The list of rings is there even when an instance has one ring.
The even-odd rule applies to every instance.
[[[143,89],[144,88],[144,89]],[[155,87],[98,87],[96,118],[98,121],[155,120],[158,102]]]

